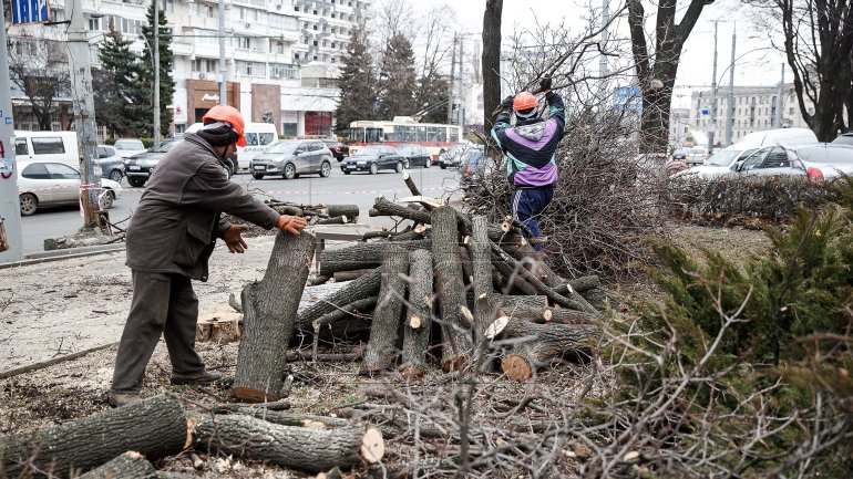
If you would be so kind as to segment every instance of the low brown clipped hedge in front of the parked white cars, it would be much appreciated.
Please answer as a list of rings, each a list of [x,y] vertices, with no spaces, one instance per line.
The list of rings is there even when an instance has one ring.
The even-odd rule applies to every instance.
[[[828,183],[804,176],[687,175],[672,178],[668,192],[675,218],[711,225],[778,223],[800,207],[813,209],[830,199]]]

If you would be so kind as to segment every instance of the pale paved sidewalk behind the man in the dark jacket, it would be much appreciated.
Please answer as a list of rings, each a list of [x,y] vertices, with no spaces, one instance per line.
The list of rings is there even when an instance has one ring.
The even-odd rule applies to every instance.
[[[322,227],[360,231],[366,225]],[[228,295],[260,280],[275,236],[248,238],[248,250],[232,254],[222,241],[210,258],[210,279],[194,281],[199,315],[233,312]],[[326,248],[346,242],[327,241]],[[70,256],[0,269],[0,376],[13,369],[103,347],[121,339],[131,304],[131,270],[124,250]],[[314,264],[312,264],[314,267]]]

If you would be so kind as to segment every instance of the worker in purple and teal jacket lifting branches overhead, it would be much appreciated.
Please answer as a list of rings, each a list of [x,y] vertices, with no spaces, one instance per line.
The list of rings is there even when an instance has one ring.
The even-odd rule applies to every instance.
[[[537,114],[536,97],[521,92],[504,98],[492,128],[492,137],[506,157],[506,171],[513,186],[510,201],[513,218],[524,223],[534,238],[541,236],[539,215],[554,197],[557,181],[554,154],[566,126],[563,98],[552,92],[551,86],[549,77],[539,82],[548,103],[547,119]],[[515,126],[510,126],[511,111],[515,112]],[[535,248],[542,251],[543,244]]]

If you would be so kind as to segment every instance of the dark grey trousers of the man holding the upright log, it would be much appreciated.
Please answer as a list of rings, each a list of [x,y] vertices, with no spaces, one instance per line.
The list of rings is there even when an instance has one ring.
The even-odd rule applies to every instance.
[[[198,298],[189,278],[181,274],[146,273],[133,270],[133,301],[115,357],[112,391],[138,393],[163,334],[172,371],[192,374],[204,371],[195,352]]]

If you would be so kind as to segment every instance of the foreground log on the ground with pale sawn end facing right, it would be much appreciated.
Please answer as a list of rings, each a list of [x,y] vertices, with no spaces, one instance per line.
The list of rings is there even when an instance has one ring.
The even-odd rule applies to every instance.
[[[374,464],[384,456],[382,434],[356,425],[316,429],[281,426],[243,415],[193,414],[196,449],[320,472]]]

